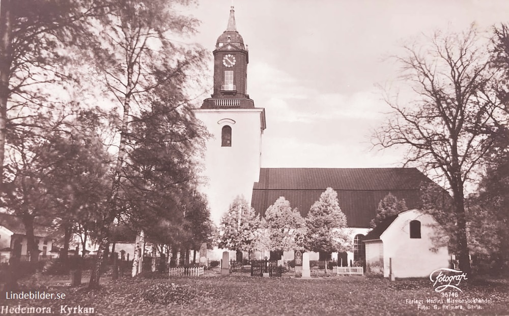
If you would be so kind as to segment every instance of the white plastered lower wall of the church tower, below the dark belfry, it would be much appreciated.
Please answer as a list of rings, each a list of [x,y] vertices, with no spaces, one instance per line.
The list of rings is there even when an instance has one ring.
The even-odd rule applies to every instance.
[[[261,108],[195,109],[196,118],[212,137],[207,141],[201,187],[207,194],[214,222],[219,220],[237,195],[250,204],[252,186],[259,181],[262,130]],[[232,128],[232,146],[221,147],[223,126]]]

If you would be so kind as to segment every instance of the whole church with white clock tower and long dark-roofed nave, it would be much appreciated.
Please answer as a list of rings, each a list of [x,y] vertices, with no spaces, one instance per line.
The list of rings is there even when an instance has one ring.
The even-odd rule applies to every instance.
[[[247,94],[249,50],[237,31],[233,7],[213,55],[213,94],[194,113],[212,134],[206,144],[202,174],[208,184],[202,190],[215,222],[238,195],[262,216],[279,196],[284,196],[305,217],[320,194],[331,187],[337,192],[354,242],[354,251],[340,256],[342,262],[351,264],[365,260],[362,240],[370,231],[369,223],[380,200],[389,192],[405,199],[409,209],[419,207],[419,188],[431,180],[416,168],[262,167],[266,111]],[[293,252],[285,253],[284,258],[292,260]],[[310,258],[318,260],[318,254]]]

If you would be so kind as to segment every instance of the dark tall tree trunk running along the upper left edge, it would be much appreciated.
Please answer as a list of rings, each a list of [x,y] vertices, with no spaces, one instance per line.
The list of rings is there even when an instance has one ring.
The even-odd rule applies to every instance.
[[[3,183],[5,139],[7,134],[7,101],[12,65],[12,2],[2,0],[0,6],[0,184]]]

